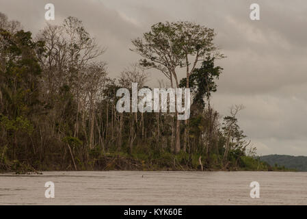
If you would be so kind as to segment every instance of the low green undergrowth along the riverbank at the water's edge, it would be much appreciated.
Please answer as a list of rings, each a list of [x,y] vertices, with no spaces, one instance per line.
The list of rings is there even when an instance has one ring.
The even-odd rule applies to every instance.
[[[27,174],[42,171],[72,171],[72,170],[141,170],[141,171],[295,171],[280,166],[270,166],[255,157],[242,156],[236,160],[222,162],[219,157],[202,157],[180,153],[152,158],[146,154],[106,153],[98,158],[92,158],[88,164],[81,162],[42,162],[18,161],[1,163],[0,172],[16,172]]]

